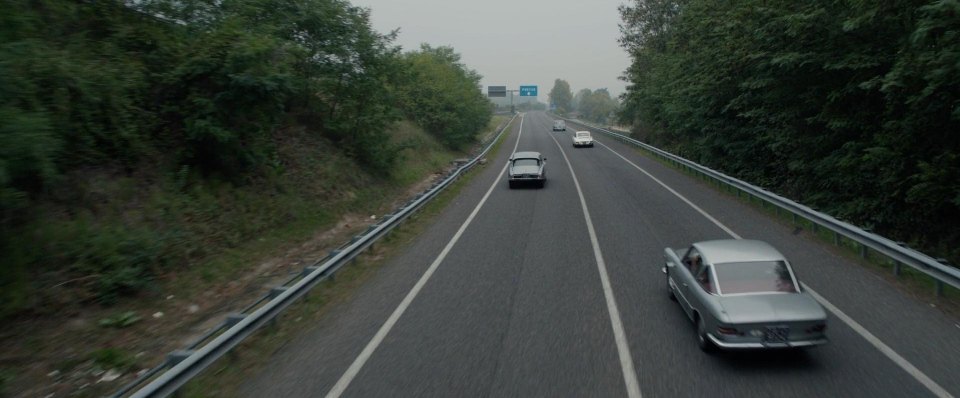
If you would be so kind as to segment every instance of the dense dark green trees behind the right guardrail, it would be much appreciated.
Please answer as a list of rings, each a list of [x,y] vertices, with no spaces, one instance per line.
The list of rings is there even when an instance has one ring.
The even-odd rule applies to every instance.
[[[960,260],[960,6],[633,0],[620,118],[691,160]]]

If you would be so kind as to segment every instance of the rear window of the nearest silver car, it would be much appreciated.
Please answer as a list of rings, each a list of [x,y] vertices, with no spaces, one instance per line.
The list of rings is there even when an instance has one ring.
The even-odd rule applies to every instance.
[[[753,261],[715,264],[717,286],[722,294],[796,293],[790,269],[783,261]]]

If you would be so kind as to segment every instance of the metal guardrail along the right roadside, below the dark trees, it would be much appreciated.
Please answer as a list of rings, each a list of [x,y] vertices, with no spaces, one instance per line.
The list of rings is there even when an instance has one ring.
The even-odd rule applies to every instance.
[[[559,116],[558,116],[559,117]],[[586,126],[588,128],[600,131],[618,141],[631,144],[637,147],[640,147],[661,159],[672,162],[676,166],[687,168],[696,173],[700,173],[707,177],[710,177],[718,182],[725,183],[729,186],[732,186],[739,191],[737,191],[737,196],[740,195],[740,191],[746,192],[749,195],[753,195],[766,203],[770,203],[778,208],[784,209],[794,216],[794,222],[796,222],[796,217],[803,217],[806,220],[810,221],[814,225],[814,230],[818,227],[826,228],[834,233],[834,243],[839,244],[840,236],[843,236],[851,241],[857,242],[860,247],[860,256],[866,257],[867,250],[873,250],[877,253],[880,253],[887,258],[894,261],[893,271],[895,274],[899,275],[901,266],[906,264],[907,266],[920,271],[934,280],[934,289],[936,294],[943,294],[943,284],[946,283],[954,288],[960,289],[960,269],[951,267],[946,264],[946,261],[943,259],[935,259],[926,254],[923,254],[917,250],[904,246],[903,243],[894,242],[890,239],[884,238],[883,236],[877,235],[875,233],[866,231],[860,227],[849,224],[847,222],[838,220],[833,216],[818,212],[808,206],[797,203],[793,200],[779,196],[773,192],[767,191],[763,188],[751,185],[742,180],[730,177],[726,174],[723,174],[719,171],[713,170],[711,168],[702,166],[700,164],[694,163],[690,160],[681,158],[667,151],[661,150],[649,144],[640,142],[631,137],[628,137],[624,134],[610,131],[608,129],[593,126],[587,123],[583,123],[579,120],[568,119],[560,117],[568,122],[574,124],[579,124]]]

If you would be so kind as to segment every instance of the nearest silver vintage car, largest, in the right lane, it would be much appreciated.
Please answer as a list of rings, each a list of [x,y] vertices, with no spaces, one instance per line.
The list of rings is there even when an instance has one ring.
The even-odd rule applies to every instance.
[[[694,243],[664,250],[670,298],[693,321],[704,351],[827,343],[827,314],[800,289],[790,263],[766,242]]]

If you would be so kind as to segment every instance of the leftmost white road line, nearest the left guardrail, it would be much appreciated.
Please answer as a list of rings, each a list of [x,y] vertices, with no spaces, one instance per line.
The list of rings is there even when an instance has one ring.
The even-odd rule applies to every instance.
[[[520,116],[520,133],[517,134],[517,143],[513,146],[513,152],[517,151],[517,145],[520,144],[521,135],[523,135],[522,115]],[[337,381],[337,384],[330,389],[330,392],[328,392],[326,395],[327,398],[340,397],[340,395],[346,391],[347,387],[350,386],[350,382],[357,377],[357,374],[360,373],[360,369],[362,369],[363,365],[367,363],[367,360],[370,359],[370,356],[373,355],[373,352],[376,351],[378,346],[380,346],[380,343],[383,342],[383,339],[387,337],[387,333],[390,333],[390,330],[393,329],[393,326],[397,324],[400,316],[402,316],[404,311],[410,307],[410,303],[413,302],[413,299],[417,298],[417,294],[420,293],[420,290],[423,289],[423,286],[426,285],[427,281],[430,280],[430,277],[433,276],[434,271],[437,270],[437,267],[440,266],[440,263],[443,262],[443,259],[447,257],[447,254],[450,253],[450,250],[453,248],[453,246],[456,245],[457,241],[460,240],[460,236],[463,235],[463,231],[466,231],[470,223],[473,222],[474,217],[476,217],[477,213],[480,212],[480,208],[483,207],[483,204],[487,202],[487,198],[490,197],[493,189],[497,187],[498,183],[500,183],[500,179],[503,177],[506,169],[507,165],[504,165],[503,169],[500,170],[500,174],[497,175],[496,180],[494,180],[493,184],[490,185],[490,189],[487,189],[487,193],[483,195],[482,199],[480,199],[480,203],[477,203],[477,206],[473,208],[473,212],[471,212],[470,216],[467,217],[467,220],[463,222],[463,225],[460,226],[460,229],[457,230],[457,233],[453,235],[453,238],[450,239],[450,242],[447,243],[447,246],[443,248],[443,251],[440,252],[440,255],[433,260],[433,263],[430,264],[430,267],[427,268],[427,271],[423,273],[423,276],[420,277],[420,280],[413,285],[413,289],[410,289],[410,292],[407,293],[407,296],[403,298],[403,301],[400,302],[400,305],[393,310],[393,313],[390,314],[390,317],[387,318],[387,321],[384,322],[383,326],[380,326],[379,330],[377,330],[377,334],[370,339],[370,342],[367,343],[367,346],[363,348],[363,351],[360,352],[360,355],[358,355],[353,363],[350,364],[350,367],[347,368],[347,371],[343,373],[343,376],[340,377],[340,380]]]

